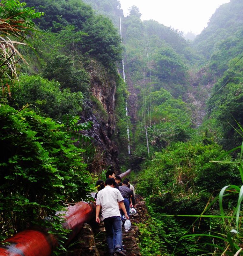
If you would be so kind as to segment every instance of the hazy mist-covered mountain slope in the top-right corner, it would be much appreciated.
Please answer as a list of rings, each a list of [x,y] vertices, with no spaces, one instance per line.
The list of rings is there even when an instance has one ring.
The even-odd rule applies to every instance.
[[[192,43],[197,52],[210,60],[210,68],[218,75],[225,71],[229,60],[241,56],[242,4],[240,0],[231,0],[221,5]]]

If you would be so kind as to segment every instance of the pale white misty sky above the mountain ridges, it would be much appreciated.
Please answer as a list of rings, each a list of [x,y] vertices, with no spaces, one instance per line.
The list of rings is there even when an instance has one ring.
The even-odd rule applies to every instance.
[[[157,20],[185,34],[200,34],[218,6],[230,0],[120,0],[124,15],[136,5],[142,20]]]

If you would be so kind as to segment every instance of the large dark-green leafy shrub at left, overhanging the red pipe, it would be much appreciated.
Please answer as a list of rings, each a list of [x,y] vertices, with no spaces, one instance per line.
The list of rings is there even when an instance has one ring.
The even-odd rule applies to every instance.
[[[64,125],[29,109],[0,108],[1,238],[55,215],[63,202],[86,198],[90,178],[83,149]]]

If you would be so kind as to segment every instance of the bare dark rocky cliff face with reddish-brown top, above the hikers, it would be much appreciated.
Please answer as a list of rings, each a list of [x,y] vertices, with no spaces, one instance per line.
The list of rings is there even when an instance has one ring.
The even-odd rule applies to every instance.
[[[92,129],[85,134],[92,138],[96,147],[96,163],[92,164],[93,171],[102,166],[112,166],[119,170],[117,146],[111,140],[115,131],[115,77],[108,75],[104,67],[92,60],[88,72],[91,78],[91,101],[86,102],[81,122],[92,121]]]

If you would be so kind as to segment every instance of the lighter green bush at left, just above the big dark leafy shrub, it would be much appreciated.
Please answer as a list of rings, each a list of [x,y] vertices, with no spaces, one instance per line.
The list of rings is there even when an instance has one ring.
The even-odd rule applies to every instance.
[[[64,114],[77,115],[82,111],[82,92],[70,92],[69,88],[60,89],[60,84],[48,81],[41,76],[22,75],[19,85],[12,88],[12,101],[18,108],[31,104],[39,108],[42,115],[62,120]]]

